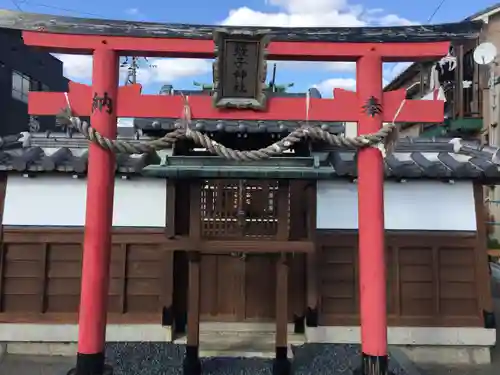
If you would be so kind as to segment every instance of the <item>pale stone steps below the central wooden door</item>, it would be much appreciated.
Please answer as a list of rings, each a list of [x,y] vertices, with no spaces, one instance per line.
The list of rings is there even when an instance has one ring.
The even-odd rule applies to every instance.
[[[200,357],[274,358],[275,325],[260,323],[201,323]],[[304,334],[296,334],[288,326],[288,358],[292,346],[303,345]],[[176,337],[176,344],[186,344],[186,336]]]

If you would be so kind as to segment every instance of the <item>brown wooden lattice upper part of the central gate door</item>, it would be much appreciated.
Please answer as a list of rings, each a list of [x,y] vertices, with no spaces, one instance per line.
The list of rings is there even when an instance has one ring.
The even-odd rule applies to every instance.
[[[278,220],[277,180],[206,180],[201,188],[201,235],[206,239],[274,239]],[[284,192],[288,196],[288,191]]]

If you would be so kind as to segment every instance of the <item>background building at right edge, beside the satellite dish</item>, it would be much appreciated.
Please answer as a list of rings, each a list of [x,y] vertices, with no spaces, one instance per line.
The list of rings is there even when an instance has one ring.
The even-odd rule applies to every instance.
[[[493,43],[500,51],[500,3],[467,20],[485,22],[479,40],[453,45],[450,55],[441,63],[412,64],[385,87],[385,90],[406,88],[407,97],[412,99],[446,100],[444,123],[402,124],[402,137],[451,136],[482,146],[500,145],[500,60],[497,56],[489,65],[478,65],[473,58],[475,47],[482,42]],[[500,240],[500,187],[491,184],[485,188],[485,204],[488,209],[484,220],[488,223],[490,239],[497,242]]]

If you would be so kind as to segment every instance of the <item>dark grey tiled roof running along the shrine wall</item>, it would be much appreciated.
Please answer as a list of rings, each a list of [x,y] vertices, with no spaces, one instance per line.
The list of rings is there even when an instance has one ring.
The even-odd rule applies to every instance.
[[[148,137],[119,139],[140,142]],[[315,152],[322,167],[332,168],[331,175],[356,177],[354,150],[325,148]],[[151,164],[170,156],[169,151],[156,155],[118,155],[117,173],[137,174]],[[0,140],[0,171],[66,172],[85,174],[88,142],[79,134],[68,138],[62,133],[25,133]],[[176,157],[174,159],[179,159]],[[221,161],[224,163],[223,159]],[[272,164],[272,162],[271,162]],[[398,179],[478,179],[500,181],[499,148],[459,139],[407,138],[398,142],[396,151],[385,159],[387,178]]]

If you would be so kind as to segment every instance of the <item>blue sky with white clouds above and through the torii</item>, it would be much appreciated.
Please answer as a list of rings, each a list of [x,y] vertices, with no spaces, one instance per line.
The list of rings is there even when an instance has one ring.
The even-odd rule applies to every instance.
[[[441,0],[0,0],[4,9],[88,18],[129,19],[133,21],[183,22],[266,26],[361,26],[428,23]],[[483,10],[494,2],[487,0],[445,0],[431,23],[454,22]],[[78,82],[89,82],[91,59],[85,56],[59,56],[65,74]],[[211,65],[204,60],[151,60],[142,65],[139,80],[148,93],[158,92],[166,83],[175,88],[191,88],[193,80],[211,82]],[[384,80],[390,81],[407,64],[384,66]],[[333,87],[352,89],[353,65],[349,63],[281,63],[277,83],[294,83],[293,91],[316,85],[324,96]]]

